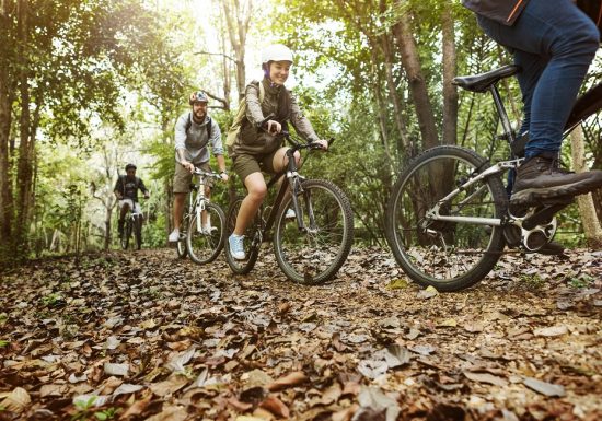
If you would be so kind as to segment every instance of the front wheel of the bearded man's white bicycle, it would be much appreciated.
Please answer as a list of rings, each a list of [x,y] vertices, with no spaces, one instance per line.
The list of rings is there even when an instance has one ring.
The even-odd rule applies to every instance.
[[[200,217],[200,221],[198,219]],[[225,238],[225,215],[215,203],[206,203],[205,210],[195,213],[188,226],[186,247],[193,261],[205,265],[220,254]]]

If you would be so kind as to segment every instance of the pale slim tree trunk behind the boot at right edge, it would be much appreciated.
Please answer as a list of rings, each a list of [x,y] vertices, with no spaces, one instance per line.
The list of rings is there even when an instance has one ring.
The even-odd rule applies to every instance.
[[[583,142],[583,131],[581,126],[577,127],[570,135],[572,165],[577,173],[588,171],[586,167],[586,147]],[[577,197],[581,223],[586,241],[590,247],[600,248],[602,246],[602,226],[595,214],[592,195],[582,195]]]

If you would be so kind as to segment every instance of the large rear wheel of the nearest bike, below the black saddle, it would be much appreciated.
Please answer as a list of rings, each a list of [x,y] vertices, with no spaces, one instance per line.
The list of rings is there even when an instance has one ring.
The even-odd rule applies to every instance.
[[[458,291],[481,281],[505,247],[501,226],[435,220],[439,214],[501,218],[508,198],[499,176],[465,183],[489,167],[475,152],[453,145],[432,148],[400,175],[386,208],[386,236],[395,259],[420,285]],[[439,202],[455,188],[453,198]]]

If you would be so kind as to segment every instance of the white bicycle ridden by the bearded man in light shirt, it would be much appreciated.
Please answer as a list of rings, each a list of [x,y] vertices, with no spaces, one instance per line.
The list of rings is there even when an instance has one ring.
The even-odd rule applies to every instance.
[[[205,185],[209,179],[221,179],[217,173],[195,168],[196,183],[190,184],[188,206],[180,226],[177,256],[199,265],[213,261],[223,248],[225,238],[225,214],[205,196]]]

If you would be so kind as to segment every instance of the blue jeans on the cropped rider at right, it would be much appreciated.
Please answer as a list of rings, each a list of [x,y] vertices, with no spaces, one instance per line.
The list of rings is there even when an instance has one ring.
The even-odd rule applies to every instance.
[[[593,22],[570,0],[531,0],[513,26],[479,16],[523,68],[519,82],[530,141],[525,156],[556,155],[563,128],[599,46]]]

